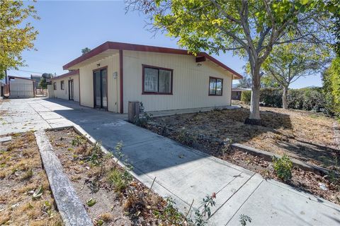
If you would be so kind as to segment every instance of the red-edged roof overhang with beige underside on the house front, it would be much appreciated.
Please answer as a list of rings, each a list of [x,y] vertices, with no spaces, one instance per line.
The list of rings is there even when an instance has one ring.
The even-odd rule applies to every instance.
[[[86,64],[91,64],[96,61],[99,61],[103,58],[111,56],[113,54],[118,54],[119,50],[131,50],[131,51],[140,51],[140,52],[159,52],[164,54],[182,54],[182,55],[193,55],[192,53],[188,52],[186,49],[173,49],[173,48],[166,48],[166,47],[154,47],[142,44],[130,44],[130,43],[123,43],[123,42],[105,42],[100,46],[92,49],[90,52],[70,61],[69,63],[62,66],[64,70],[75,70],[79,69],[80,66],[84,66]],[[222,67],[226,71],[232,73],[234,78],[243,78],[239,73],[230,69],[222,62],[218,61],[214,57],[211,57],[209,54],[205,52],[200,52],[196,56],[196,61],[201,60],[205,61],[208,59],[215,63],[217,66]]]

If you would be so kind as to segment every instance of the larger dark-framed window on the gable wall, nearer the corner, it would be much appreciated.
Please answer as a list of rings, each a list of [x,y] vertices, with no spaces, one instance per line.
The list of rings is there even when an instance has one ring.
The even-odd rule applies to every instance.
[[[143,65],[142,94],[172,94],[172,69]]]

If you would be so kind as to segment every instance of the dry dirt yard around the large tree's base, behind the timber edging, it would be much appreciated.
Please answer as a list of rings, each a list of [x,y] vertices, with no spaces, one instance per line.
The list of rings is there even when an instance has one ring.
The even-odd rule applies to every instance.
[[[210,140],[231,140],[260,150],[310,162],[333,169],[340,165],[340,151],[334,140],[335,119],[312,112],[261,107],[263,126],[244,124],[249,108],[178,114],[152,119],[148,129],[181,139],[180,133],[204,136]],[[219,145],[197,139],[198,149],[221,157]]]

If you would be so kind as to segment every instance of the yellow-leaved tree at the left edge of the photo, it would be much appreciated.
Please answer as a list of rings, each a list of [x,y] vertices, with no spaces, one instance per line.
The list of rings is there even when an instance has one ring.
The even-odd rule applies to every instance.
[[[34,48],[38,35],[28,18],[39,19],[34,6],[0,0],[0,78],[4,78],[7,69],[26,66],[21,53]]]

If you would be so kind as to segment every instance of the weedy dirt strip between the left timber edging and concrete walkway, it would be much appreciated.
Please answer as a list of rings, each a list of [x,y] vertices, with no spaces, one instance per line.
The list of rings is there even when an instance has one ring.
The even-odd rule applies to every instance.
[[[95,225],[159,225],[162,222],[154,213],[164,210],[163,198],[135,179],[121,191],[109,183],[111,170],[118,167],[111,155],[91,154],[93,145],[73,129],[47,131],[47,136],[84,206],[91,198],[96,200],[94,206],[86,206]]]

